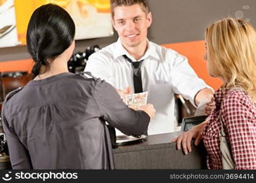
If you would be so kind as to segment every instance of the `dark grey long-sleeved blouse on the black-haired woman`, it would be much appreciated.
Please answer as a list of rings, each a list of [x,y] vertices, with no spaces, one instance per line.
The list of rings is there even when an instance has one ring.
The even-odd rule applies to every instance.
[[[2,120],[13,169],[113,169],[105,121],[141,135],[149,116],[127,107],[105,81],[62,73],[10,93]]]

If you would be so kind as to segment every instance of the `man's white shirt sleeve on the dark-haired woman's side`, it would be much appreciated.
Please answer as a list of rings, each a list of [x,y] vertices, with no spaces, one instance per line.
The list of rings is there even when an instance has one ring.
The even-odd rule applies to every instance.
[[[114,84],[114,77],[111,74],[111,57],[102,50],[92,54],[86,62],[85,71],[91,72],[92,76],[105,80],[109,84]]]

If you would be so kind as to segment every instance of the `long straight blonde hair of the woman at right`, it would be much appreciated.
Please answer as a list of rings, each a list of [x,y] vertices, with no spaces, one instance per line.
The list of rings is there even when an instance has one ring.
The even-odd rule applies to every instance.
[[[208,68],[222,87],[243,88],[256,101],[256,32],[241,19],[224,18],[207,27]]]

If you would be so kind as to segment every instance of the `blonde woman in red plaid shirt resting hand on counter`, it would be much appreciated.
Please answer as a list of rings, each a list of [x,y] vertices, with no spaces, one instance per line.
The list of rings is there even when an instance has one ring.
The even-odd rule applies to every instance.
[[[191,151],[190,141],[201,138],[209,169],[222,169],[219,134],[221,122],[235,169],[256,169],[256,33],[246,21],[225,18],[205,32],[209,75],[224,84],[214,94],[216,109],[208,120],[173,139],[177,148]]]

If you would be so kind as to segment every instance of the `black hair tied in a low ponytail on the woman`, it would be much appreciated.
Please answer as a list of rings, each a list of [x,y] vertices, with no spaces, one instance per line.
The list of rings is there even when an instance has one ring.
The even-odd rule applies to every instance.
[[[55,4],[42,5],[29,20],[26,35],[28,52],[35,64],[32,78],[40,72],[47,59],[59,56],[71,45],[75,37],[75,24],[69,13]]]

